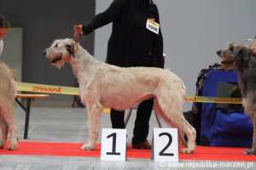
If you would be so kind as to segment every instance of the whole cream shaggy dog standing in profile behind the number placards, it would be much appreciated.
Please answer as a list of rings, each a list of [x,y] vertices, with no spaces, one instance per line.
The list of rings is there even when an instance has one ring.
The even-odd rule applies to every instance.
[[[180,134],[188,137],[183,153],[195,150],[195,128],[183,116],[185,87],[171,71],[152,67],[121,68],[96,60],[73,39],[55,40],[44,51],[52,65],[61,68],[67,61],[79,80],[81,100],[89,115],[89,142],[82,150],[93,150],[103,108],[125,110],[144,99],[154,98],[154,108]]]

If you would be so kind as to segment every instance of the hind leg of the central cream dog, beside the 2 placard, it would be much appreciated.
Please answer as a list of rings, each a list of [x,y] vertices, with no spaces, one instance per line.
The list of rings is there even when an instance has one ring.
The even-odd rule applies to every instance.
[[[172,98],[172,97],[170,97]],[[177,98],[172,98],[171,100],[166,99],[154,99],[154,108],[156,111],[164,118],[164,120],[171,126],[177,127],[179,134],[185,133],[188,137],[188,146],[187,148],[183,149],[182,152],[184,154],[193,153],[195,150],[195,128],[192,127],[189,122],[183,116],[182,112],[182,99],[178,102]],[[171,101],[171,102],[164,102],[164,101]],[[178,137],[179,139],[183,137]]]

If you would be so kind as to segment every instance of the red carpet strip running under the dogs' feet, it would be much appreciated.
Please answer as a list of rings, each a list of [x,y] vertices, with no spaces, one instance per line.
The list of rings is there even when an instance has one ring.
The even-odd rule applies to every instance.
[[[54,143],[20,141],[19,150],[0,149],[0,155],[36,155],[36,156],[101,156],[101,144],[96,150],[80,150],[81,143]],[[256,156],[242,154],[244,148],[197,146],[192,155],[179,154],[180,160],[210,161],[256,161]],[[127,150],[127,158],[150,158],[151,150]]]

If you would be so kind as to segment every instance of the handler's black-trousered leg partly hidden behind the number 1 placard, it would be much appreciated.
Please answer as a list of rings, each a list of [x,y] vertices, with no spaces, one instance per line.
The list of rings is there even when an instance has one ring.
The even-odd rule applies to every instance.
[[[112,128],[125,128],[125,111],[115,111],[111,109],[110,119]]]

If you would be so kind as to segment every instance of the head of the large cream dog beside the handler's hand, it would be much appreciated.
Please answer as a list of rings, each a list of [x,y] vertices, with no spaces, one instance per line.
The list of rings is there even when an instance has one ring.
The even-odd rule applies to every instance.
[[[51,46],[44,50],[44,55],[49,59],[51,65],[61,68],[66,61],[69,61],[71,57],[74,57],[74,44],[73,39],[57,39]]]

